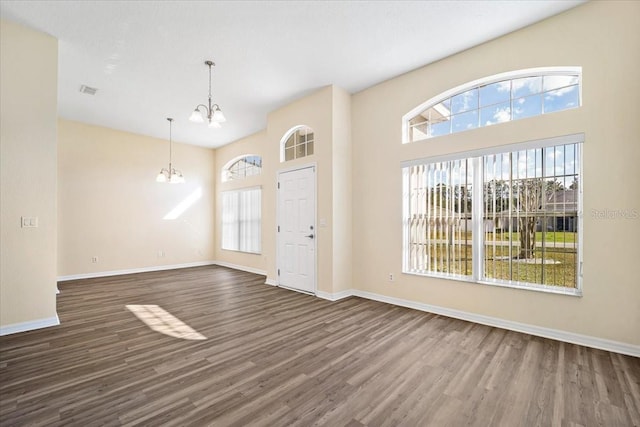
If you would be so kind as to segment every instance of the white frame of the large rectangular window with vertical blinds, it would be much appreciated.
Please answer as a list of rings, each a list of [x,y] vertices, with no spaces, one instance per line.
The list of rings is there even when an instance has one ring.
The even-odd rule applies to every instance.
[[[461,153],[433,156],[421,159],[407,160],[401,163],[402,169],[402,272],[403,274],[411,274],[417,276],[434,277],[438,279],[448,279],[463,281],[469,283],[478,283],[483,285],[508,287],[515,289],[525,289],[533,291],[543,291],[548,293],[556,293],[563,295],[582,296],[582,272],[583,272],[583,149],[585,137],[583,133],[545,138],[536,141],[528,141],[521,143],[514,143],[509,145],[503,145],[498,147],[483,148],[477,150],[470,150]],[[575,287],[563,287],[556,285],[544,285],[535,284],[529,282],[519,282],[511,280],[499,280],[488,279],[484,272],[485,262],[485,248],[484,248],[484,211],[483,211],[483,198],[484,198],[484,181],[482,175],[481,163],[484,156],[497,155],[502,153],[511,153],[515,151],[543,149],[561,145],[578,144],[580,150],[578,152],[579,167],[576,173],[578,174],[578,200],[577,200],[577,238],[578,244],[576,245],[576,284]],[[410,198],[411,189],[408,186],[408,170],[412,166],[428,165],[439,162],[469,160],[472,162],[473,180],[472,180],[472,274],[471,275],[454,275],[449,273],[439,272],[422,272],[412,271],[409,265],[410,250],[410,226],[408,224],[408,212],[410,211]],[[477,185],[476,183],[480,183]],[[480,200],[480,203],[476,201]],[[480,218],[480,219],[478,219]]]

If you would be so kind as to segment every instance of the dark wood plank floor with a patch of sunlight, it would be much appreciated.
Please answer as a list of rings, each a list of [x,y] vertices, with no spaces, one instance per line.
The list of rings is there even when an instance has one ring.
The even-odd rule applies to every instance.
[[[640,426],[634,357],[222,267],[59,287],[0,337],[2,426]]]

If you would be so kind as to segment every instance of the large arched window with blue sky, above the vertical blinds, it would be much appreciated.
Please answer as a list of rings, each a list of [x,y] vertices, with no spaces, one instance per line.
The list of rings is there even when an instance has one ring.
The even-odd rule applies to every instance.
[[[581,67],[547,67],[466,83],[407,113],[403,142],[577,108],[581,77]]]

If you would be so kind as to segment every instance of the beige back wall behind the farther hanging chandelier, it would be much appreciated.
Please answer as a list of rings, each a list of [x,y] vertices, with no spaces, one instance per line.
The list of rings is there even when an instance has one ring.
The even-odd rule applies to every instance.
[[[173,143],[185,184],[155,181],[168,162],[168,139],[59,121],[58,276],[214,260],[215,153]]]

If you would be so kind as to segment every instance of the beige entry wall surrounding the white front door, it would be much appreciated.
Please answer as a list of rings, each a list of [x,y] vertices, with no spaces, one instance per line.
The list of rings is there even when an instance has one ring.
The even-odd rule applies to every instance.
[[[296,167],[316,166],[317,190],[317,290],[336,293],[350,289],[351,281],[351,96],[335,86],[324,87],[269,114],[266,131],[216,150],[216,179],[232,159],[247,154],[262,156],[262,174],[242,181],[220,183],[220,193],[239,187],[262,186],[262,254],[220,249],[221,222],[216,222],[216,260],[266,272],[277,283],[278,173]],[[314,130],[314,154],[280,162],[280,142],[293,127]],[[217,208],[220,218],[220,206]],[[325,224],[324,226],[322,224]]]

